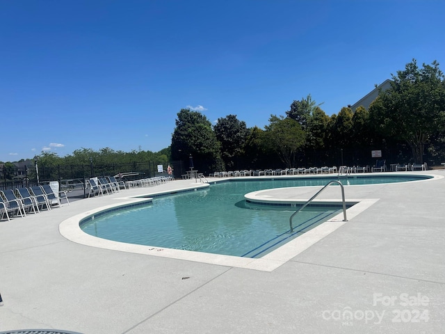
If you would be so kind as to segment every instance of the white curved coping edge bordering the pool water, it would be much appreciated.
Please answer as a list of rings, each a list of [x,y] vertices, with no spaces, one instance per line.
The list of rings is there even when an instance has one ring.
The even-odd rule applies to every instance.
[[[397,172],[396,172],[397,173]],[[391,173],[392,175],[395,175],[396,173]],[[400,174],[404,175],[416,175],[416,173],[407,173],[407,172],[398,172]],[[373,175],[378,174],[385,174],[385,173],[373,173]],[[386,174],[387,175],[387,174]],[[440,178],[443,178],[443,175],[433,175],[428,173],[422,173],[422,175],[426,175],[430,177],[429,179],[425,180],[418,180],[418,181],[410,181],[410,182],[424,182],[424,181],[430,181],[430,180],[437,180]],[[316,177],[316,175],[314,175]],[[293,178],[296,178],[298,176],[294,175]],[[318,175],[320,177],[320,175]],[[234,178],[234,181],[236,180],[260,180],[260,178],[282,178],[282,177],[236,177]],[[215,182],[209,182],[209,184],[218,183],[218,182],[227,182],[230,179],[223,179],[223,180],[213,180]],[[400,182],[400,183],[387,183],[389,185],[397,185],[397,184],[406,184],[407,182]],[[136,254],[143,254],[143,255],[152,255],[157,257],[167,257],[172,258],[176,260],[186,260],[186,261],[193,261],[193,262],[202,262],[207,264],[216,264],[216,265],[222,265],[226,267],[238,267],[238,268],[244,268],[244,269],[254,269],[258,271],[273,271],[280,267],[282,264],[288,262],[293,257],[296,257],[298,254],[302,253],[302,251],[306,250],[310,246],[316,244],[318,241],[321,241],[321,239],[327,237],[327,235],[331,234],[341,226],[343,226],[347,221],[343,221],[343,212],[340,214],[337,214],[337,216],[334,216],[330,218],[329,220],[325,221],[321,225],[318,225],[316,228],[313,228],[312,230],[309,230],[308,232],[305,232],[305,234],[300,235],[298,238],[289,241],[287,244],[284,244],[280,248],[277,248],[276,250],[273,250],[272,252],[268,253],[267,255],[264,255],[264,257],[261,258],[247,258],[247,257],[236,257],[231,255],[217,255],[212,253],[203,253],[203,252],[195,252],[191,250],[178,250],[178,249],[172,249],[172,248],[161,248],[156,246],[143,246],[143,245],[136,245],[136,244],[127,244],[120,241],[111,241],[108,239],[101,239],[99,237],[94,237],[90,234],[87,234],[86,232],[83,232],[80,228],[81,221],[85,221],[88,219],[89,216],[93,216],[94,214],[97,214],[99,212],[106,212],[107,210],[113,210],[116,207],[126,207],[133,205],[135,202],[138,201],[147,201],[151,200],[152,197],[156,196],[164,196],[168,194],[178,193],[182,191],[197,191],[197,189],[205,189],[209,186],[209,184],[193,184],[191,186],[187,186],[185,188],[181,189],[170,189],[167,191],[155,191],[155,192],[147,192],[143,195],[139,196],[133,196],[133,197],[122,197],[122,198],[115,198],[113,200],[119,200],[120,202],[115,202],[111,205],[106,205],[102,207],[97,207],[95,209],[91,209],[87,212],[83,212],[81,214],[77,214],[75,216],[72,216],[70,218],[67,218],[65,221],[60,223],[59,225],[59,232],[63,235],[66,239],[73,241],[77,244],[83,244],[85,246],[91,246],[91,247],[97,247],[97,248],[104,248],[108,250],[118,250],[122,252],[127,253],[136,253]],[[356,185],[354,187],[362,187],[362,186],[382,186],[382,184],[361,184]],[[312,188],[320,188],[320,186],[304,186],[300,187],[301,189],[312,189]],[[289,189],[292,188],[281,188],[280,189],[266,189],[262,191],[257,192],[263,192],[263,191],[277,191],[277,193],[274,194],[275,200],[282,201],[283,199],[280,198],[280,196],[277,196],[278,193],[285,193],[286,191],[289,191]],[[148,191],[148,189],[147,189]],[[256,193],[256,192],[254,192]],[[340,191],[339,191],[340,193]],[[300,194],[301,196],[301,194]],[[309,196],[310,197],[310,196]],[[323,199],[321,202],[331,202],[338,204],[341,202],[341,197],[337,194],[335,195],[335,198],[337,199]],[[270,198],[267,199],[270,201]],[[366,210],[368,207],[371,207],[375,202],[377,202],[378,198],[366,198],[366,199],[347,199],[347,202],[355,202],[355,205],[352,207],[349,207],[346,209],[347,219],[350,221],[353,219],[357,214],[360,214],[364,210]],[[287,198],[287,202],[306,202],[306,199],[299,199],[299,198]]]

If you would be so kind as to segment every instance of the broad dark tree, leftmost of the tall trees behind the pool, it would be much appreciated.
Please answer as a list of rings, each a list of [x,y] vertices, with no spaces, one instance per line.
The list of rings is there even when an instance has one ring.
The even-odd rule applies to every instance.
[[[172,134],[172,159],[189,161],[203,173],[211,170],[224,170],[220,159],[220,144],[211,122],[198,111],[181,109],[177,113],[176,127]]]

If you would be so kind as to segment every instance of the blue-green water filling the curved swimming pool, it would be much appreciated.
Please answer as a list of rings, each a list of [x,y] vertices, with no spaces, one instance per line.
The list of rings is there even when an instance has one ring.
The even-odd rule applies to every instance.
[[[423,177],[425,179],[426,177]],[[154,198],[152,204],[120,209],[86,219],[81,229],[96,237],[129,244],[261,257],[341,212],[339,207],[307,208],[293,220],[293,207],[245,204],[252,191],[290,186],[324,186],[338,177],[218,182],[209,188]],[[419,175],[348,177],[343,184],[377,184],[421,180]]]

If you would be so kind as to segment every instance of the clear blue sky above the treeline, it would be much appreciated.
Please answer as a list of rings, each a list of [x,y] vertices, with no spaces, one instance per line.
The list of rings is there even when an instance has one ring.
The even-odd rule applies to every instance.
[[[445,71],[444,17],[442,0],[0,0],[0,161],[157,152],[183,108],[262,128],[311,94],[332,115],[412,58]]]

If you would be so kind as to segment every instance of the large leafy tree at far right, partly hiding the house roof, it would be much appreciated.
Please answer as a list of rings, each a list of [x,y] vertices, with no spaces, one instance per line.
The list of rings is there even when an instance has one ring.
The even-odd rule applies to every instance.
[[[410,145],[414,162],[423,163],[425,145],[444,127],[444,74],[437,61],[419,68],[413,59],[391,75],[391,88],[369,106],[370,118],[382,134]]]

